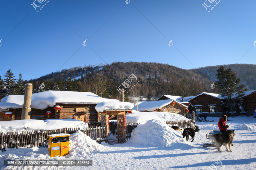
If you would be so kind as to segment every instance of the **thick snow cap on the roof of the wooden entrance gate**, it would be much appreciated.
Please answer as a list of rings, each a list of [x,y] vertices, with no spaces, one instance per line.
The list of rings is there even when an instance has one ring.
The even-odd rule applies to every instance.
[[[103,112],[104,110],[131,110],[133,104],[129,102],[120,102],[119,100],[111,99],[110,102],[101,102],[95,106],[95,110]]]

